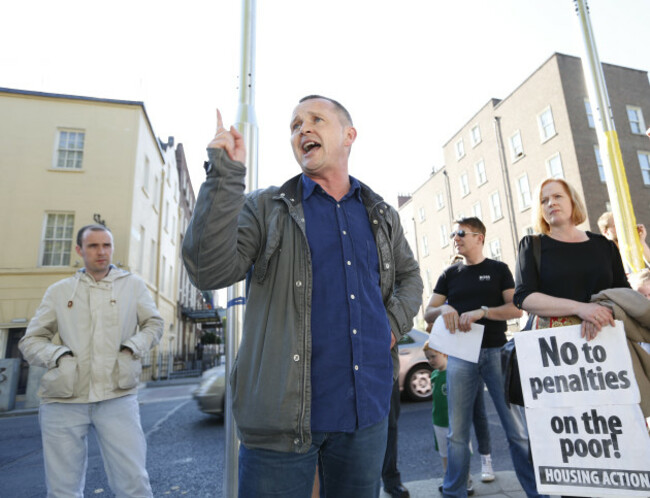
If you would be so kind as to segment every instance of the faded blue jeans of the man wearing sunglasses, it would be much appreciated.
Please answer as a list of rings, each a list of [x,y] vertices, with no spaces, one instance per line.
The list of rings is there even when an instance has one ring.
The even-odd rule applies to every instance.
[[[449,435],[447,436],[448,466],[443,482],[445,497],[467,496],[469,475],[469,431],[480,379],[485,381],[508,446],[517,478],[529,497],[540,496],[535,485],[533,464],[529,458],[528,431],[523,411],[518,406],[506,406],[503,391],[500,348],[483,348],[478,363],[453,356],[447,363],[447,400],[449,402]]]

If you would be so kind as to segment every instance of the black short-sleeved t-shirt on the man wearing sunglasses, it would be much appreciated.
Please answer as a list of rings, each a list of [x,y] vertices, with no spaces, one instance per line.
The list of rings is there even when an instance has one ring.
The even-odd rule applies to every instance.
[[[451,265],[442,272],[433,292],[446,296],[447,303],[462,315],[481,306],[503,305],[503,291],[514,287],[508,265],[486,258],[477,265],[462,262]],[[496,348],[506,343],[505,320],[482,318],[476,323],[485,325],[482,348]]]

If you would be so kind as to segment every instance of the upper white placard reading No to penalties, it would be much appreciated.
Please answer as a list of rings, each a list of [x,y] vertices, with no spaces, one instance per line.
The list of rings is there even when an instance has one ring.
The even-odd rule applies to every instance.
[[[580,337],[580,325],[519,332],[514,339],[526,407],[640,402],[622,322],[591,341]]]

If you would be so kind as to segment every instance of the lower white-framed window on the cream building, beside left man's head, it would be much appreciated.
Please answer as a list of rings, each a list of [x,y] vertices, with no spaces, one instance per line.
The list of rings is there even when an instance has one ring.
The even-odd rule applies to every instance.
[[[69,211],[45,213],[39,266],[70,266],[75,235],[74,222],[74,213]]]

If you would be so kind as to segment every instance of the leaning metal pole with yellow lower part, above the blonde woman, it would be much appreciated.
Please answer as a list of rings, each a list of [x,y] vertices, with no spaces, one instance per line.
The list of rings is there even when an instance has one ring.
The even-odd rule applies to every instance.
[[[575,10],[578,15],[582,39],[584,42],[585,56],[582,59],[583,71],[587,93],[596,124],[598,135],[598,146],[605,151],[601,154],[603,168],[605,170],[605,182],[609,201],[612,205],[614,224],[618,237],[618,246],[623,260],[626,261],[632,271],[639,271],[644,268],[641,241],[636,229],[636,218],[632,207],[632,199],[627,184],[623,156],[618,143],[618,135],[614,127],[605,75],[603,73],[596,41],[594,39],[589,11],[586,0],[574,0]]]

